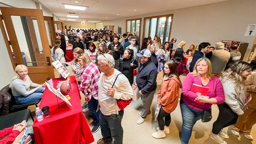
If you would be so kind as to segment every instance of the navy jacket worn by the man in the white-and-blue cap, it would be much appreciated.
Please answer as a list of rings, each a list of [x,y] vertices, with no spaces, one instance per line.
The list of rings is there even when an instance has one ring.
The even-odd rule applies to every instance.
[[[156,89],[156,77],[157,68],[151,60],[139,65],[136,83],[142,94],[149,94]]]

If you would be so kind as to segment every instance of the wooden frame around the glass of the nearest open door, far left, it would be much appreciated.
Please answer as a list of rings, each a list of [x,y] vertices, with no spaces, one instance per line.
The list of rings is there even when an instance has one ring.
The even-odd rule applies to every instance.
[[[1,10],[2,14],[4,13],[4,15],[2,15],[2,17],[1,17],[2,20],[4,20],[5,24],[8,24],[8,25],[6,25],[6,31],[8,32],[8,36],[12,37],[12,39],[10,39],[10,41],[8,41],[4,26],[3,26],[3,22],[1,21],[0,25],[2,25],[1,26],[2,32],[4,31],[3,35],[5,34],[4,35],[5,42],[6,42],[6,38],[7,38],[7,41],[9,43],[8,44],[6,42],[6,47],[7,47],[8,53],[10,55],[11,62],[13,64],[13,68],[15,69],[16,64],[15,64],[13,56],[12,56],[12,51],[11,51],[10,45],[12,45],[12,49],[13,49],[13,52],[14,52],[14,56],[16,58],[17,65],[19,65],[19,64],[24,65],[24,62],[23,62],[23,59],[22,59],[22,56],[21,56],[21,50],[20,50],[20,46],[18,44],[18,40],[17,40],[17,36],[16,36],[16,32],[15,32],[15,29],[14,29],[14,26],[13,26],[11,16],[29,16],[29,17],[32,17],[31,15],[33,14],[33,17],[36,17],[39,32],[40,32],[40,39],[42,41],[42,47],[45,47],[44,56],[49,57],[50,58],[49,59],[50,63],[52,63],[51,52],[50,52],[50,49],[47,48],[47,47],[49,47],[48,46],[49,43],[48,43],[48,39],[47,39],[47,35],[46,35],[46,28],[45,28],[45,24],[44,24],[43,10],[42,9],[12,8],[12,7],[0,7],[0,10]],[[36,13],[35,13],[35,11],[36,11]],[[19,13],[19,15],[17,15],[16,13]],[[40,66],[31,67],[29,73],[38,73],[38,71],[40,71],[40,70],[38,70],[38,68],[40,68]],[[51,66],[46,66],[46,69],[47,69],[47,73],[49,74],[49,76],[54,78],[55,75],[54,75],[52,64],[51,64]]]

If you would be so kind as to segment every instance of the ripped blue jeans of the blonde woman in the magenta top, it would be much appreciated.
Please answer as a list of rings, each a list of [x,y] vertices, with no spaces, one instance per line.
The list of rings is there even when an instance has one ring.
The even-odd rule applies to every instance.
[[[182,143],[188,144],[192,134],[192,129],[197,120],[202,118],[204,111],[198,111],[191,108],[187,104],[180,100],[182,127],[181,127],[181,139]]]

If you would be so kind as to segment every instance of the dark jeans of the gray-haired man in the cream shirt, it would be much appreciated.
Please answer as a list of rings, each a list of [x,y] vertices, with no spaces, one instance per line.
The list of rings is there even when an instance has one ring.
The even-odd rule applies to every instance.
[[[100,125],[101,125],[101,135],[105,141],[110,141],[114,138],[114,144],[123,143],[123,127],[121,126],[121,121],[124,116],[124,111],[121,110],[119,114],[111,114],[106,116],[100,112]]]

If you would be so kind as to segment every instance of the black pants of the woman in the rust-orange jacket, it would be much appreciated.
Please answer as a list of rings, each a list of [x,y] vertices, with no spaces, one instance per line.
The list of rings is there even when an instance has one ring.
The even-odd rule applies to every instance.
[[[165,117],[165,122],[163,118]],[[164,125],[169,127],[171,123],[171,115],[163,110],[163,108],[160,109],[159,114],[157,116],[157,121],[160,130],[164,130]]]

